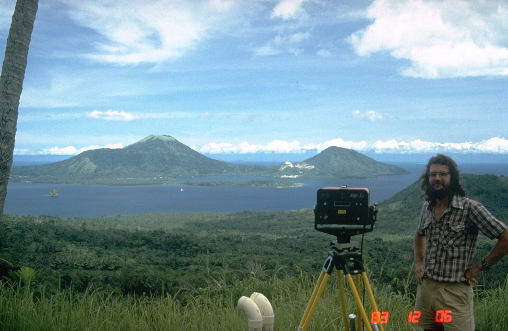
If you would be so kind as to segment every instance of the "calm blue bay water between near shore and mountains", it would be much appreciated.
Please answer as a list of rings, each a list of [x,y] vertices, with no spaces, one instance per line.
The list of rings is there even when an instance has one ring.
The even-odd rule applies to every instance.
[[[367,187],[370,203],[381,202],[418,180],[424,164],[395,163],[411,172],[374,179],[285,179],[301,187],[188,186],[202,181],[272,180],[267,178],[182,178],[171,185],[105,186],[10,183],[4,212],[24,215],[114,216],[153,212],[239,212],[312,208],[316,191],[327,186]],[[508,163],[460,164],[462,173],[508,176]],[[59,195],[51,197],[55,186]],[[183,189],[183,190],[182,190]]]

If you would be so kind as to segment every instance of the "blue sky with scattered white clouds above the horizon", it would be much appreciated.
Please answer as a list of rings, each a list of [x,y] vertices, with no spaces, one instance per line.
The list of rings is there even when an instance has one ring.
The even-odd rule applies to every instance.
[[[15,154],[169,135],[216,155],[508,158],[507,87],[506,1],[44,0]]]

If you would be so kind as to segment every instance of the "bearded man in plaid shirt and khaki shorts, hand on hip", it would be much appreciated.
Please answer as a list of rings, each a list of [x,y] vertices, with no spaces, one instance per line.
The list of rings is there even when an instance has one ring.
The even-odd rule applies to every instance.
[[[465,197],[451,157],[431,157],[419,183],[426,201],[414,237],[418,325],[425,331],[473,331],[471,285],[508,252],[508,229],[481,203]],[[479,231],[498,241],[473,264]]]

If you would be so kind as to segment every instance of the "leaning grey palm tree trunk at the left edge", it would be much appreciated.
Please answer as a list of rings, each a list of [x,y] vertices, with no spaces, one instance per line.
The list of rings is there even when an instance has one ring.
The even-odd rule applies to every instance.
[[[39,0],[17,0],[0,77],[0,222],[11,175],[19,98]]]

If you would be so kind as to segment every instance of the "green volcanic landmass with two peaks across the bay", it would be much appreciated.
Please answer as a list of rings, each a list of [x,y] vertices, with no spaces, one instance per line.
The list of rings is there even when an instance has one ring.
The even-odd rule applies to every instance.
[[[407,173],[401,168],[339,147],[330,147],[303,162],[286,167],[252,166],[207,157],[168,136],[149,136],[121,149],[88,150],[67,160],[15,167],[11,181],[103,185],[163,184],[180,177],[368,178]],[[353,164],[353,167],[352,167]],[[309,166],[309,164],[307,164]]]

